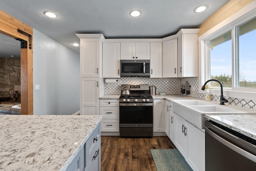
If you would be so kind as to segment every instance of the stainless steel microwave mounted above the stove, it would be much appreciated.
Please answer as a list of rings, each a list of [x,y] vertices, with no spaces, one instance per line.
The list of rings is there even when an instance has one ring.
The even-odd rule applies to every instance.
[[[149,77],[150,60],[120,60],[121,76]]]

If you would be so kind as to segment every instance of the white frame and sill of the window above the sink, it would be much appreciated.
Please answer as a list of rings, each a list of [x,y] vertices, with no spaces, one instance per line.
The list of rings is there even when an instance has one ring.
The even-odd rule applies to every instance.
[[[236,26],[256,17],[256,3],[251,3],[248,6],[242,8],[242,10],[236,12],[220,24],[217,24],[212,29],[208,30],[200,37],[198,37],[198,55],[199,55],[199,93],[205,93],[201,90],[202,85],[210,80],[210,46],[209,40],[212,40],[228,30],[232,30],[232,88],[224,87],[223,92],[226,97],[236,97],[241,99],[256,100],[256,89],[235,87],[236,85],[236,48],[237,38],[235,36]],[[236,47],[236,48],[234,48]],[[220,87],[212,87],[210,89],[212,95],[220,95]]]

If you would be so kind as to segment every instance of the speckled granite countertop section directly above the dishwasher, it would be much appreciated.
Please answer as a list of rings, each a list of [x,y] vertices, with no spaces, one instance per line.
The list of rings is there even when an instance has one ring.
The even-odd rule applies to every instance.
[[[256,140],[256,114],[204,115],[204,117]]]

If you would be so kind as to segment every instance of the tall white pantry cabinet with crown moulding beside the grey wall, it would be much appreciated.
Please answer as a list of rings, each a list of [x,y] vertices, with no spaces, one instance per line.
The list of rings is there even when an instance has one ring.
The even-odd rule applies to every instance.
[[[80,38],[80,115],[100,115],[102,34],[76,34]]]

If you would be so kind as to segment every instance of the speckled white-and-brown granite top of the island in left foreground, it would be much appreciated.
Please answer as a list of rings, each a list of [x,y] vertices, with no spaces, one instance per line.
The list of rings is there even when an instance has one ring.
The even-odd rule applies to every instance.
[[[0,115],[0,170],[49,171],[69,165],[99,115]]]

